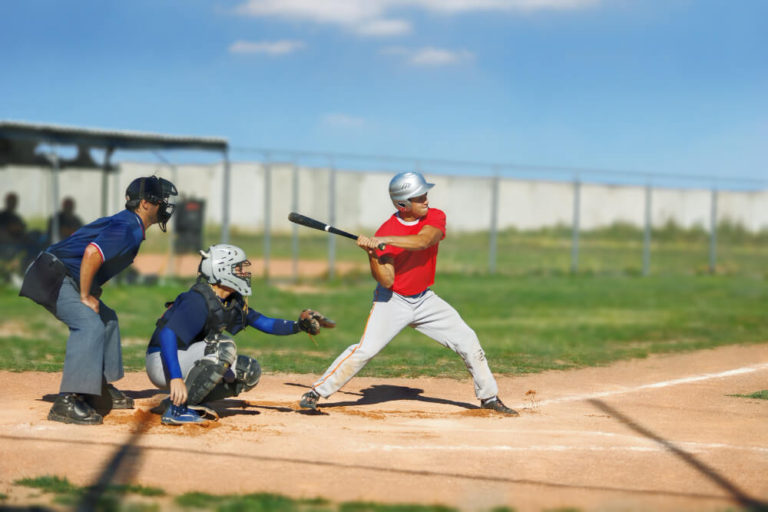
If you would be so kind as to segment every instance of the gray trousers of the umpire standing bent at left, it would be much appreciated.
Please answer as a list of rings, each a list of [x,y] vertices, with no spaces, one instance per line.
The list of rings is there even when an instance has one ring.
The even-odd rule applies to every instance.
[[[80,302],[80,292],[69,276],[59,290],[56,318],[69,327],[60,392],[99,395],[102,375],[107,382],[123,377],[117,314],[101,301],[98,313]]]

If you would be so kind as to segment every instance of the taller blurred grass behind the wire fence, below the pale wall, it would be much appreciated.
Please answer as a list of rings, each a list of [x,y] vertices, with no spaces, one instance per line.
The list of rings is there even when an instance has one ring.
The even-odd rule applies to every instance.
[[[302,259],[328,258],[330,235],[299,229],[298,250]],[[216,227],[204,230],[204,245],[217,243]],[[363,261],[360,249],[345,238],[333,237],[338,261]],[[578,273],[639,275],[643,272],[642,229],[618,223],[580,234]],[[743,227],[723,221],[717,230],[716,273],[764,278],[768,274],[768,230],[749,233]],[[253,258],[264,256],[264,237],[258,232],[232,230],[230,242]],[[498,233],[495,269],[500,275],[568,275],[571,272],[572,232],[568,226],[535,231],[507,229]],[[656,275],[707,274],[709,234],[700,227],[683,229],[674,223],[656,228],[651,234],[649,272]],[[157,229],[147,233],[142,251],[165,252],[169,241]],[[443,271],[482,274],[489,270],[490,235],[487,232],[454,233],[440,246]],[[273,233],[271,258],[291,258],[290,234]]]

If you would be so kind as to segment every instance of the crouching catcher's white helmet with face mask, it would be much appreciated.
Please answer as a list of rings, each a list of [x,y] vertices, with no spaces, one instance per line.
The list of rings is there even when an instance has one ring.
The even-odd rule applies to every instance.
[[[210,284],[232,288],[244,297],[251,294],[251,272],[248,270],[251,262],[245,251],[236,245],[217,244],[207,251],[200,251],[200,255],[202,259],[197,271]]]

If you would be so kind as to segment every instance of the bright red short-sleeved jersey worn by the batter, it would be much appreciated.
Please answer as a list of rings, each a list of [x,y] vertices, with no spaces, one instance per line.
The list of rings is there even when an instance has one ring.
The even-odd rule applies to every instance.
[[[427,214],[415,221],[405,222],[398,214],[393,214],[381,225],[374,236],[417,235],[424,226],[434,226],[443,232],[445,238],[445,213],[437,208],[430,208]],[[379,255],[391,254],[395,264],[395,283],[392,290],[400,295],[416,295],[435,282],[437,269],[437,248],[440,243],[422,251],[406,251],[388,245]]]

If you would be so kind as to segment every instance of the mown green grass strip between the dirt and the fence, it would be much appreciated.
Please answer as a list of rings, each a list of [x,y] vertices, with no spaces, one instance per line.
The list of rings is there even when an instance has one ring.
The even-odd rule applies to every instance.
[[[103,300],[118,312],[128,371],[144,369],[144,352],[163,303],[190,282],[109,284]],[[477,332],[498,374],[604,365],[728,344],[768,341],[768,284],[744,276],[672,275],[463,276],[443,273],[433,287]],[[242,353],[267,372],[318,373],[359,341],[370,309],[368,277],[315,283],[292,293],[254,281],[251,306],[294,319],[311,307],[337,322],[315,347],[305,334],[271,336],[247,329]],[[43,308],[0,286],[0,368],[59,371],[66,327]],[[450,350],[405,329],[363,370],[368,376],[448,376],[466,369]]]

